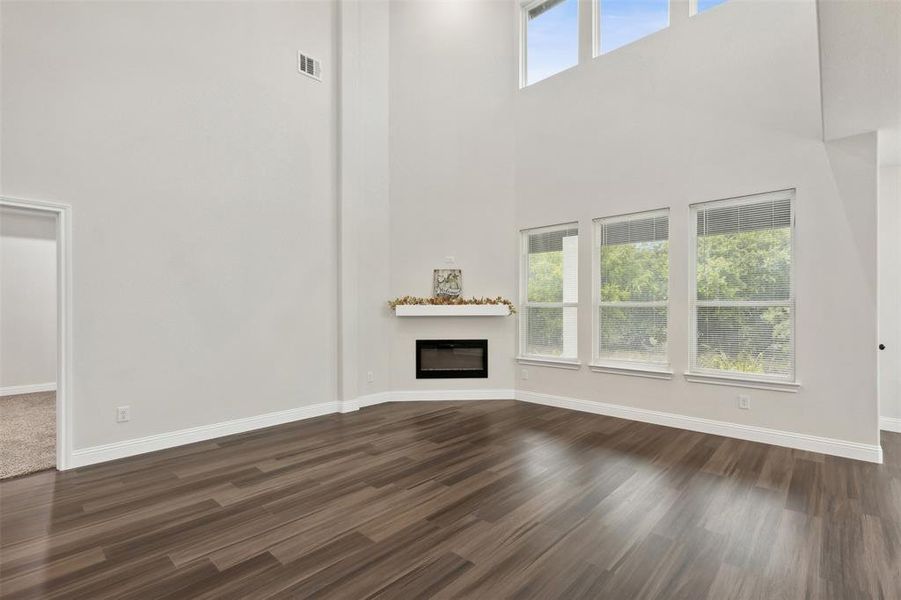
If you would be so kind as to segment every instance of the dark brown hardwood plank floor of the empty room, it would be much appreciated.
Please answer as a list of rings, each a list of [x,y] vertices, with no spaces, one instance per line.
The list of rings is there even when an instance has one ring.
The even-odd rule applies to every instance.
[[[0,483],[3,598],[901,598],[874,465],[518,402],[386,404]]]

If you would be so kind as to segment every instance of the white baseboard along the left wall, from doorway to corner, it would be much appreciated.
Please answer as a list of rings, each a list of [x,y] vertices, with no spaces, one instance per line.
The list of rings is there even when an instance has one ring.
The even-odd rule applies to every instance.
[[[81,448],[72,452],[72,460],[69,467],[85,467],[106,462],[108,460],[136,456],[138,454],[165,450],[167,448],[174,448],[185,444],[205,442],[226,435],[245,433],[255,429],[263,429],[264,427],[272,427],[274,425],[282,425],[293,421],[300,421],[302,419],[320,417],[338,412],[339,408],[338,402],[323,402],[321,404],[300,406],[279,412],[235,419],[233,421],[223,421],[222,423],[213,423],[211,425],[200,425],[189,429],[148,435],[133,440],[123,440],[112,444]]]

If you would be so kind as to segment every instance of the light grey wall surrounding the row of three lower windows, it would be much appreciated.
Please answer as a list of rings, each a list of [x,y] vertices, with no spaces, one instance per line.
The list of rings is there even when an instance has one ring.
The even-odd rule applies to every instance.
[[[876,443],[875,135],[821,141],[816,7],[730,2],[523,90],[517,227],[671,207],[672,381],[530,368],[530,391]],[[797,189],[797,394],[688,383],[689,205]],[[579,348],[590,360],[591,309]]]

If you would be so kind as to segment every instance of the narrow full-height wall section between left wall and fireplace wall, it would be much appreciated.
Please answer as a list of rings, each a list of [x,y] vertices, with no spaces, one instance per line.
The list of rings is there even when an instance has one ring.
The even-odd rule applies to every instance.
[[[389,389],[389,3],[341,3],[342,399]],[[371,374],[371,381],[370,375]]]

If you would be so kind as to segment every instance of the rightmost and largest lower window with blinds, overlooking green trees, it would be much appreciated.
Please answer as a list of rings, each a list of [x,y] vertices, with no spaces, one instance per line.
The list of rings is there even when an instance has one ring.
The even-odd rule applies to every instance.
[[[691,372],[794,381],[793,199],[692,207]]]

